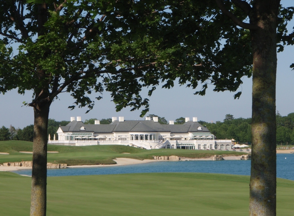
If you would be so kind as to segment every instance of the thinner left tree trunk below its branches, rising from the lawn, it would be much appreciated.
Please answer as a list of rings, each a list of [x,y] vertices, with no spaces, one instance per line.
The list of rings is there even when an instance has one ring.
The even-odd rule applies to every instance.
[[[50,103],[34,107],[33,170],[30,216],[46,215],[47,130]]]

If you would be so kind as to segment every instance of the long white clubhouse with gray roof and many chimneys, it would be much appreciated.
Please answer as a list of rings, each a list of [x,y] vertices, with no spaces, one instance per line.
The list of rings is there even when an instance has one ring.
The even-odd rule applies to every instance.
[[[158,117],[145,120],[124,120],[112,117],[110,124],[84,124],[81,117],[71,117],[67,126],[60,126],[58,140],[48,144],[68,146],[126,145],[144,149],[231,149],[232,140],[215,140],[210,131],[197,122],[197,117],[185,118],[184,124],[158,123]]]

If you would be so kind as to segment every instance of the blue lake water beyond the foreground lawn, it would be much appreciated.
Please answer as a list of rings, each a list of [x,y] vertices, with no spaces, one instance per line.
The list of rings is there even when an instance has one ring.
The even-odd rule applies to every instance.
[[[285,159],[287,158],[287,159]],[[223,161],[160,161],[115,167],[48,169],[48,176],[84,176],[123,173],[224,173],[250,175],[250,160]],[[31,175],[31,170],[14,171],[21,175]],[[277,177],[294,180],[294,154],[277,154]]]

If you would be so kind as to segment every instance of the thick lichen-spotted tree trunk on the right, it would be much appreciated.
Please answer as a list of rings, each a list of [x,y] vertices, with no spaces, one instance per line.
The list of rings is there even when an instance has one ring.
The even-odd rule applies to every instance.
[[[250,216],[276,215],[276,28],[279,1],[254,1]]]

